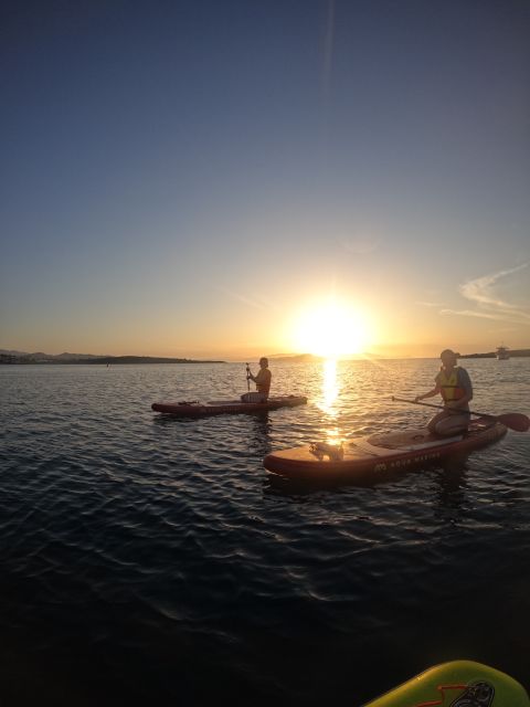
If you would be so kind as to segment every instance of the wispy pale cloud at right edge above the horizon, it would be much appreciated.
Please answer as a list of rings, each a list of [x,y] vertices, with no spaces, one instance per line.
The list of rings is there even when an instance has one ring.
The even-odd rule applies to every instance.
[[[497,273],[483,275],[469,279],[459,286],[460,294],[475,303],[476,309],[442,309],[443,315],[460,315],[464,317],[479,317],[483,319],[508,320],[518,324],[530,324],[530,306],[521,306],[500,297],[497,288],[500,281],[506,281],[515,273],[529,266],[530,263],[521,263],[515,267],[501,270]]]

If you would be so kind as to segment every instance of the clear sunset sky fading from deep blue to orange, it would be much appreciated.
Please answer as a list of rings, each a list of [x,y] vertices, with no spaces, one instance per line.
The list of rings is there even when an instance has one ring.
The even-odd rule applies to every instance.
[[[530,348],[529,36],[528,0],[3,2],[0,348]]]

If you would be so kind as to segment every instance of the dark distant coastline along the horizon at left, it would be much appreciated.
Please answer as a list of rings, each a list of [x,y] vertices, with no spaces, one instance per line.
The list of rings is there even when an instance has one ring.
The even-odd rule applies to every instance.
[[[98,366],[119,366],[124,363],[225,363],[218,360],[197,360],[191,358],[161,358],[157,356],[97,356],[92,354],[24,354],[23,351],[0,350],[0,365],[56,365],[89,363]]]

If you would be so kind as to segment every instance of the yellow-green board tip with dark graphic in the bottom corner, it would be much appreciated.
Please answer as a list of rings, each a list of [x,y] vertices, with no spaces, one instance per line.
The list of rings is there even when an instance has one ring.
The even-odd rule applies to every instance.
[[[453,661],[428,668],[364,707],[530,707],[530,699],[506,673]]]

